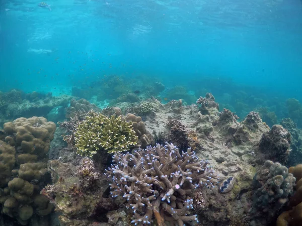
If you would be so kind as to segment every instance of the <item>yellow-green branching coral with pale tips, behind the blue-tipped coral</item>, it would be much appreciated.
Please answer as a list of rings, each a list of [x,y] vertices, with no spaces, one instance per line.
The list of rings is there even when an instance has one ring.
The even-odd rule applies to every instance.
[[[92,157],[98,150],[118,153],[137,144],[137,136],[132,122],[121,117],[107,117],[95,111],[89,111],[75,133],[75,147],[78,154]]]

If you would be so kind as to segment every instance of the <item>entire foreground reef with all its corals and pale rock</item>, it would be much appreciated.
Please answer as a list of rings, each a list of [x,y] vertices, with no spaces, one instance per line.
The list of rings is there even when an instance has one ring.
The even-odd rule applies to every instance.
[[[9,121],[0,131],[0,225],[300,220],[301,139],[290,119],[269,127],[251,111],[239,122],[211,93],[191,105],[121,94],[127,102],[117,96],[105,108],[72,96],[0,96]]]

